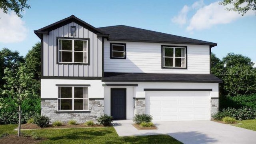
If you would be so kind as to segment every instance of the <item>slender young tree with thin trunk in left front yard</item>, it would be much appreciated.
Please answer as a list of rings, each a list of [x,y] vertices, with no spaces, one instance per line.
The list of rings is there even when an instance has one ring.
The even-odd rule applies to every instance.
[[[6,80],[6,84],[3,90],[3,94],[8,94],[11,96],[16,106],[18,107],[19,112],[19,124],[18,124],[18,136],[20,136],[20,124],[21,124],[21,104],[22,101],[26,98],[32,98],[37,96],[38,90],[38,81],[34,79],[34,74],[30,73],[25,65],[21,65],[17,68],[17,70],[11,70],[10,68],[6,68],[4,70],[5,77],[3,78]],[[0,100],[0,108],[6,107],[4,101]]]

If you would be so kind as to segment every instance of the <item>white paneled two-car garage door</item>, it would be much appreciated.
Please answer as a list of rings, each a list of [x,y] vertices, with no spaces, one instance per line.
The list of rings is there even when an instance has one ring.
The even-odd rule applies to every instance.
[[[146,92],[146,114],[153,121],[210,120],[210,92]]]

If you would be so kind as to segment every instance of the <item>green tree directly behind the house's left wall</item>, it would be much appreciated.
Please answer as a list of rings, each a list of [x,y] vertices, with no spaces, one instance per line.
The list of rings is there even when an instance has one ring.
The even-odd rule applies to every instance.
[[[41,77],[41,42],[36,43],[32,50],[28,51],[25,57],[25,63],[28,70],[35,74],[35,79],[40,80]]]

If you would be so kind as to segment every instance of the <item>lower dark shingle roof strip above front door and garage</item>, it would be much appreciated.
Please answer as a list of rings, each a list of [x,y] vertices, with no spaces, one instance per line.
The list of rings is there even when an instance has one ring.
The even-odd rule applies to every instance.
[[[102,82],[207,82],[222,83],[213,74],[148,74],[105,72]]]

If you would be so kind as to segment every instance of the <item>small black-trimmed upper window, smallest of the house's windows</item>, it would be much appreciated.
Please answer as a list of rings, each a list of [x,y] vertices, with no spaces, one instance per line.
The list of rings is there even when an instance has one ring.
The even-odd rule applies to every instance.
[[[110,58],[126,59],[126,44],[110,43]]]

